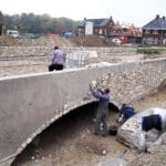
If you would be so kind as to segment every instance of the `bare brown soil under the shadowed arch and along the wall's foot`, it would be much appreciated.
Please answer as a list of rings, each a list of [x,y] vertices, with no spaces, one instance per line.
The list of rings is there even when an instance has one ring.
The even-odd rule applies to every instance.
[[[152,106],[165,106],[166,90],[145,96],[131,105],[137,112]],[[120,157],[125,151],[127,165],[151,165],[152,162],[148,160],[155,156],[138,154],[118,143],[114,136],[95,136],[94,111],[94,104],[87,105],[55,122],[28,146],[13,166],[97,166],[103,160]],[[116,118],[117,113],[111,110],[108,124],[115,124]]]

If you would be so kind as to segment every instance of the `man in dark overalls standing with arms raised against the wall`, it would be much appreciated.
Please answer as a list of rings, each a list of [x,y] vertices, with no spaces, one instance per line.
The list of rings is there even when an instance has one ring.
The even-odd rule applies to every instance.
[[[98,105],[95,114],[95,133],[96,135],[106,136],[108,133],[107,129],[107,115],[108,115],[108,103],[110,103],[110,89],[104,91],[97,90],[91,85],[93,96],[98,98]],[[101,128],[101,124],[103,128]]]

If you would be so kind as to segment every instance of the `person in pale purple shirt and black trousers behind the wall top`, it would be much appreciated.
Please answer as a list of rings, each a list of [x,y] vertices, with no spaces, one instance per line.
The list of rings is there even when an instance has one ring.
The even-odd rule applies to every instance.
[[[60,71],[64,69],[65,63],[65,53],[59,49],[59,46],[54,46],[53,54],[51,58],[52,63],[49,65],[49,71]]]

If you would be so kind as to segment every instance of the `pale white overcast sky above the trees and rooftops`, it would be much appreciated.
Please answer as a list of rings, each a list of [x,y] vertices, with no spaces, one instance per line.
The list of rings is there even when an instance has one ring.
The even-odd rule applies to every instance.
[[[143,27],[156,14],[166,15],[166,0],[1,0],[6,14],[33,12],[73,20],[110,18]]]

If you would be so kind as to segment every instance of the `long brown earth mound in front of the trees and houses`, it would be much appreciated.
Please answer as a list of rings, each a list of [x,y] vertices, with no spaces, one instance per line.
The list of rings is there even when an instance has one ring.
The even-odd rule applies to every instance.
[[[39,39],[19,39],[8,35],[0,37],[0,46],[117,46],[114,43],[98,38],[96,35],[75,37],[72,39],[65,39],[58,34],[41,37]]]

